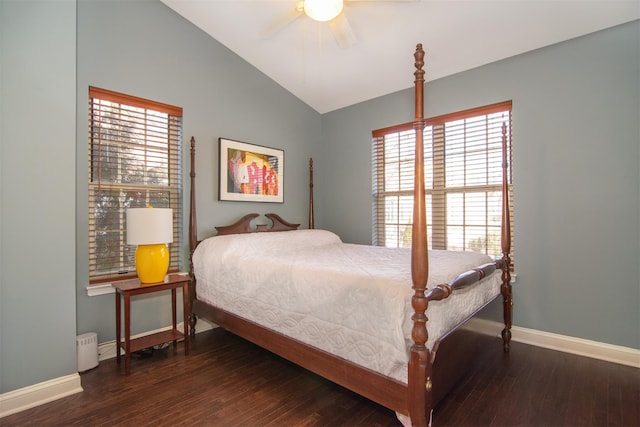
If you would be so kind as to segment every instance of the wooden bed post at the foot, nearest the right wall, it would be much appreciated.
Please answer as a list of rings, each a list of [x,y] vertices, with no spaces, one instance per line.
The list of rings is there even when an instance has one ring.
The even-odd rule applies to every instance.
[[[504,352],[508,353],[511,345],[511,321],[513,312],[513,296],[511,289],[511,220],[509,216],[509,156],[507,151],[507,125],[502,124],[502,309],[504,315],[504,329],[502,343]]]

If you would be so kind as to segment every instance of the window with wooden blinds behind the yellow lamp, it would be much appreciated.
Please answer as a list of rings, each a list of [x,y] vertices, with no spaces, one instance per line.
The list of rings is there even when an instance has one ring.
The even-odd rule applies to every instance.
[[[169,270],[182,241],[182,108],[89,88],[89,279],[135,276],[125,210],[173,209]]]

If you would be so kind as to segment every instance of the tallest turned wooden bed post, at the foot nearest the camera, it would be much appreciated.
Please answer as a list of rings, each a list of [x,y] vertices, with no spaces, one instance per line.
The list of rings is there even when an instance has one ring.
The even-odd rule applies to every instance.
[[[411,233],[411,280],[414,294],[411,298],[414,314],[411,338],[411,355],[409,359],[408,402],[409,417],[414,426],[427,425],[427,409],[431,410],[431,352],[426,348],[427,306],[429,302],[425,296],[427,280],[429,278],[429,261],[427,248],[427,209],[425,205],[424,184],[424,141],[425,126],[423,112],[424,94],[424,51],[422,44],[416,46],[414,54],[415,76],[415,121],[413,127],[416,133],[415,148],[415,181],[413,191],[413,226]]]

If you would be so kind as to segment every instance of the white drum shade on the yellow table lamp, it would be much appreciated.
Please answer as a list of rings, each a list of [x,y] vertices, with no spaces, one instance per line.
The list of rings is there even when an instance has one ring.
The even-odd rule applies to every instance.
[[[173,212],[169,208],[127,209],[127,244],[173,242]]]

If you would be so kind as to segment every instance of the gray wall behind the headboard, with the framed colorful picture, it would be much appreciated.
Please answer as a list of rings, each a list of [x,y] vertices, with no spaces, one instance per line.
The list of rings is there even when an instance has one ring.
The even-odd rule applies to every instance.
[[[114,31],[113,28],[117,28]],[[77,312],[78,333],[115,339],[114,297],[88,297],[87,129],[89,85],[183,108],[185,235],[189,140],[196,139],[200,237],[247,212],[276,212],[306,226],[308,158],[321,116],[226,47],[156,0],[78,1]],[[284,204],[220,202],[218,138],[284,149]],[[187,254],[188,242],[181,249]],[[188,268],[185,263],[183,268]],[[171,324],[170,299],[137,298],[132,333]],[[179,314],[180,316],[180,314]]]

